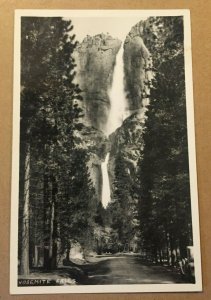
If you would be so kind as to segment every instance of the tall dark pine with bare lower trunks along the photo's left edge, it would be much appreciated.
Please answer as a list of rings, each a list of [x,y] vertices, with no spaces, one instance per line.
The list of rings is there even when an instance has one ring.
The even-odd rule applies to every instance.
[[[21,162],[20,213],[22,218],[21,273],[29,272],[29,224],[37,200],[31,192],[32,174],[38,170],[44,184],[44,227],[50,224],[51,266],[55,267],[58,180],[67,148],[74,148],[73,132],[79,126],[82,98],[75,76],[72,53],[76,46],[70,34],[71,21],[62,18],[23,17],[21,22]],[[33,154],[33,156],[32,156]],[[62,158],[62,159],[61,159]],[[25,163],[24,163],[25,162]],[[30,168],[33,166],[33,170]],[[41,189],[41,188],[40,188]],[[28,191],[27,193],[25,191]],[[31,208],[30,208],[31,207]],[[50,218],[47,221],[47,218]],[[26,224],[26,226],[24,225]],[[47,230],[48,232],[48,230]],[[26,246],[24,246],[26,245]]]

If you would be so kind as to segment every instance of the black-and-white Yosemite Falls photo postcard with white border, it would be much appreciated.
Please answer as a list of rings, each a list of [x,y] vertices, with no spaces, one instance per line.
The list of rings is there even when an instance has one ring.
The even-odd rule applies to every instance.
[[[188,10],[16,10],[11,294],[201,291]]]

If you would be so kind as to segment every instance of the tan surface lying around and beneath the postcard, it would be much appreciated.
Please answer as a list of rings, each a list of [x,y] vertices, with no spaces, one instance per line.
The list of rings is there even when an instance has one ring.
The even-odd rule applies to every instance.
[[[47,9],[168,9],[189,8],[192,55],[199,209],[202,293],[9,295],[10,174],[12,149],[14,10]],[[211,0],[0,0],[0,300],[211,299]],[[14,266],[15,268],[15,266]],[[103,292],[103,291],[102,291]]]

